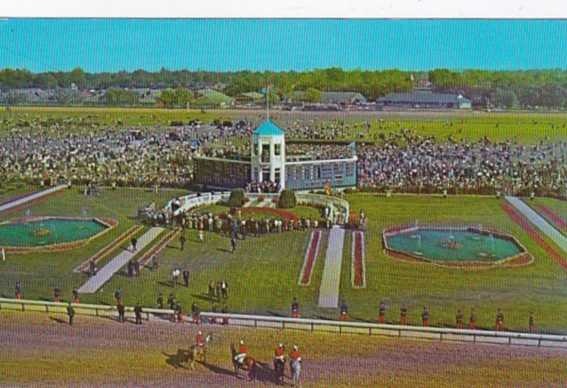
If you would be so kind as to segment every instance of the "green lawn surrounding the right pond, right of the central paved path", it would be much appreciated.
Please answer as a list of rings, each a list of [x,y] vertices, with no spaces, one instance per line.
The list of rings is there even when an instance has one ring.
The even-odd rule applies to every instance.
[[[388,304],[388,321],[398,321],[400,304],[408,304],[409,321],[420,324],[422,308],[430,310],[430,323],[454,326],[457,309],[466,321],[476,308],[477,325],[493,327],[498,308],[505,312],[510,329],[527,329],[529,311],[539,329],[566,332],[566,273],[525,234],[500,208],[500,200],[461,196],[348,195],[352,211],[364,210],[369,217],[366,242],[366,290],[350,287],[350,242],[344,249],[341,293],[351,315],[376,319],[381,299]],[[382,251],[381,232],[386,227],[415,222],[460,221],[490,224],[513,234],[535,261],[522,268],[459,270],[421,263],[405,263]],[[557,248],[558,249],[558,248]]]

